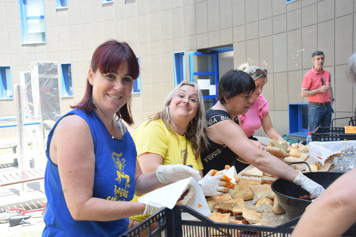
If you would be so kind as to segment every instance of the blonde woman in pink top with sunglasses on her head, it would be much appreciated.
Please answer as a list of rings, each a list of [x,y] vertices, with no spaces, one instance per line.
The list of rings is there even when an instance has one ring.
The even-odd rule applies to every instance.
[[[262,126],[263,132],[268,138],[277,141],[286,141],[279,135],[277,130],[273,128],[271,117],[269,117],[268,113],[269,106],[267,100],[261,95],[262,88],[267,82],[267,70],[262,70],[257,66],[248,66],[247,63],[241,64],[238,69],[250,75],[256,84],[256,90],[252,96],[253,99],[255,99],[255,103],[246,114],[239,115],[241,128],[244,130],[246,136],[253,140],[253,143],[258,147],[264,149],[263,146],[267,146],[267,144],[253,137],[255,130],[260,129]]]

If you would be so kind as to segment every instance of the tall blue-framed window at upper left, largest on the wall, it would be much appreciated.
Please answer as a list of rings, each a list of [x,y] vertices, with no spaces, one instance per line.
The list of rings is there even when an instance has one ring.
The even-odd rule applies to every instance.
[[[19,0],[23,44],[46,43],[43,0]]]

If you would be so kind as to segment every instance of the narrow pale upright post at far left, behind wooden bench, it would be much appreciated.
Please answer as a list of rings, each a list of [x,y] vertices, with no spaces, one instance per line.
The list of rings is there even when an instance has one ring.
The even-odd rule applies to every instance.
[[[25,142],[23,140],[23,126],[22,126],[22,101],[21,101],[21,85],[14,85],[15,91],[15,104],[16,104],[16,133],[17,133],[17,147],[19,149],[19,168],[21,170],[25,170],[29,164],[25,161],[25,157],[23,152],[25,151]],[[20,196],[22,193],[26,193],[27,191],[27,184],[21,184]]]

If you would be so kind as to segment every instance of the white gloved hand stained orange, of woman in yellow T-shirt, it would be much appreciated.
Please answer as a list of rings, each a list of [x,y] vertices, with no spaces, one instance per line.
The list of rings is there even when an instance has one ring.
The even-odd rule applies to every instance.
[[[229,191],[229,189],[224,186],[226,186],[227,183],[227,185],[231,183],[222,181],[224,179],[223,175],[213,176],[214,173],[216,173],[216,171],[214,172],[214,169],[211,169],[209,173],[199,181],[205,196],[221,196],[224,194],[223,192]]]

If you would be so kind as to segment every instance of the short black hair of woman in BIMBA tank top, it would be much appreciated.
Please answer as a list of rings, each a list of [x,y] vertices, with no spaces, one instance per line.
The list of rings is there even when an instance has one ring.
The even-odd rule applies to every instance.
[[[255,92],[256,84],[250,75],[241,70],[231,69],[221,76],[218,84],[218,100],[226,104],[227,99],[244,93]]]

